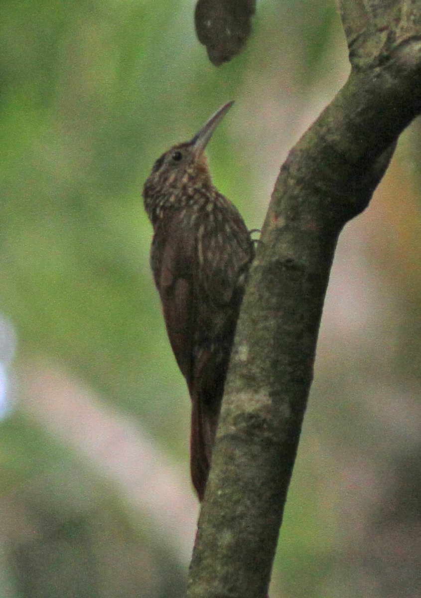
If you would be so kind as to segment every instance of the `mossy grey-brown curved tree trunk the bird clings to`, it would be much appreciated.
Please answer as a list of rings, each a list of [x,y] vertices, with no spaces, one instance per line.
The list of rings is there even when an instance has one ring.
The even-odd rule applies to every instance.
[[[421,111],[421,1],[343,0],[352,70],[280,169],[243,301],[188,596],[267,594],[338,235]]]

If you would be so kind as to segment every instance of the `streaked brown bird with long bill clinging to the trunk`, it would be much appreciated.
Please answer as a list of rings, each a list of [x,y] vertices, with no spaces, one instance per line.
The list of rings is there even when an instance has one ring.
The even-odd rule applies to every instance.
[[[145,182],[154,228],[151,267],[169,340],[192,403],[191,477],[202,501],[225,376],[254,243],[242,216],[214,187],[205,148],[233,102],[191,141],[155,162]]]

